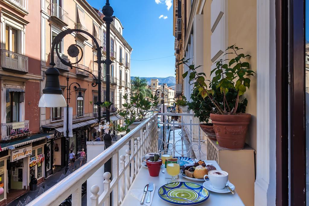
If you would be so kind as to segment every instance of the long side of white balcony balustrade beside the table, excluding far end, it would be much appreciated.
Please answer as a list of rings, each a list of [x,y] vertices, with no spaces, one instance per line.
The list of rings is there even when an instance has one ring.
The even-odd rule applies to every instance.
[[[136,132],[140,132],[140,137],[133,137],[133,134]],[[110,205],[110,201],[112,201],[112,205],[120,205],[142,166],[141,160],[143,154],[150,151],[158,151],[157,140],[158,130],[156,114],[147,118],[97,157],[68,175],[65,179],[58,182],[27,205],[40,205],[44,203],[44,205],[58,206],[71,194],[72,205],[81,205],[82,184],[110,158],[112,158],[112,162],[116,164],[113,166],[114,169],[112,169],[112,179],[110,179],[111,173],[104,173],[104,188],[93,185],[91,187],[92,195],[90,197],[90,202],[91,205],[94,206],[107,206]],[[125,149],[125,154],[120,155],[120,150],[122,148],[127,149]],[[99,190],[104,190],[101,195],[98,194]],[[111,198],[111,192],[113,192],[113,198]]]

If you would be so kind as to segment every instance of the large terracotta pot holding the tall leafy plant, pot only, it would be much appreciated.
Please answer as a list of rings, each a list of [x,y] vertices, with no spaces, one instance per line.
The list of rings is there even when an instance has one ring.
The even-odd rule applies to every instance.
[[[232,150],[243,149],[251,114],[210,114],[210,119],[214,124],[214,131],[220,147]]]

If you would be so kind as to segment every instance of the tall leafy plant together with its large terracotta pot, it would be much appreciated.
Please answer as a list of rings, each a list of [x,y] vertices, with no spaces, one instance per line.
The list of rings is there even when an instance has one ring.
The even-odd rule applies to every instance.
[[[240,99],[247,88],[250,88],[250,78],[248,77],[254,76],[255,72],[250,70],[250,64],[245,61],[250,55],[239,54],[241,49],[235,44],[226,49],[226,51],[231,51],[226,54],[234,58],[220,59],[215,62],[216,67],[210,73],[210,75],[213,73],[215,75],[211,81],[205,80],[205,73],[196,71],[199,66],[188,66],[189,82],[195,80],[194,90],[197,90],[203,99],[210,99],[214,106],[210,112],[210,119],[214,124],[218,144],[225,149],[243,149],[251,119],[251,114],[242,113],[244,110],[239,106],[247,104],[247,99]],[[225,61],[228,61],[228,64]],[[183,59],[180,63],[186,64],[187,62],[188,60]],[[183,78],[187,75],[188,71],[183,74]],[[210,82],[209,86],[205,81]],[[223,98],[222,101],[219,99],[220,95]]]

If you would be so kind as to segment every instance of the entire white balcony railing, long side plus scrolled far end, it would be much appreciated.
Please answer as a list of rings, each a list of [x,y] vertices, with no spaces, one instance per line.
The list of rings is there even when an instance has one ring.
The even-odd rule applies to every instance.
[[[161,116],[161,121],[158,123],[159,116]],[[168,116],[164,123],[163,116]],[[175,119],[176,116],[181,116],[182,121],[171,120]],[[87,179],[91,182],[90,178],[93,178],[91,176],[95,172],[101,171],[100,168],[109,159],[112,159],[112,174],[105,172],[102,175],[102,171],[100,175],[102,179],[96,181],[101,183],[103,181],[103,184],[100,184],[104,188],[91,185],[88,188],[91,194],[88,194],[87,202],[94,206],[121,205],[140,171],[142,157],[145,153],[163,152],[171,153],[173,156],[206,159],[206,150],[202,149],[202,144],[205,144],[206,140],[203,140],[200,136],[197,142],[186,135],[185,130],[189,130],[189,133],[191,133],[193,126],[198,125],[192,123],[192,118],[193,114],[186,113],[157,113],[150,116],[109,148],[32,200],[28,205],[39,205],[43,202],[44,205],[58,206],[70,195],[72,195],[72,205],[81,205],[81,185]],[[162,125],[166,125],[165,132],[169,131],[169,133],[159,137],[158,124],[161,124],[161,130]],[[136,137],[136,133],[139,134],[139,137]]]

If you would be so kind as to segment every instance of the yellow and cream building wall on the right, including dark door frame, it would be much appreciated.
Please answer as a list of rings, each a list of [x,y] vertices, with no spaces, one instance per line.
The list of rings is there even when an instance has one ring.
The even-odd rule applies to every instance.
[[[228,46],[251,55],[256,75],[243,96],[252,115],[246,143],[256,153],[256,175],[245,193],[237,190],[244,204],[308,204],[307,1],[174,0],[173,6],[177,95],[191,101],[189,75],[182,77],[190,70],[178,65],[182,58],[212,78]]]

